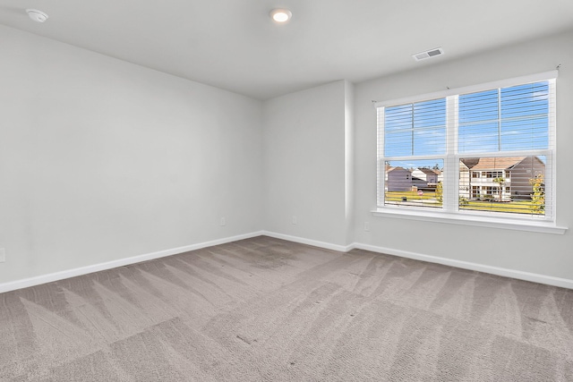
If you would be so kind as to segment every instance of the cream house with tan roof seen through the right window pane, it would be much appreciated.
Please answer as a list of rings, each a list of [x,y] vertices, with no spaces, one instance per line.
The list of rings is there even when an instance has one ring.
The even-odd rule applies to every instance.
[[[482,157],[460,161],[460,196],[471,199],[529,199],[530,179],[545,174],[538,157]],[[494,179],[502,178],[503,182]]]

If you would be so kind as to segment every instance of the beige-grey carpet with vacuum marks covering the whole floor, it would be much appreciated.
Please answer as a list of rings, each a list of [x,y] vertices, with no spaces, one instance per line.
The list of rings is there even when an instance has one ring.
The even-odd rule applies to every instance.
[[[269,237],[0,294],[0,380],[573,380],[573,291]]]

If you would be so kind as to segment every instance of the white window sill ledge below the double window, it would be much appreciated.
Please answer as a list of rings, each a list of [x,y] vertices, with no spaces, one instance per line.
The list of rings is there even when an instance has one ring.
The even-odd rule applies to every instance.
[[[377,208],[372,210],[373,216],[396,217],[400,219],[418,220],[425,222],[445,223],[450,225],[473,225],[489,228],[509,229],[537,233],[563,234],[569,228],[560,227],[547,221],[526,221],[505,219],[490,216],[475,216],[469,214],[451,214],[447,212],[413,211],[404,208]]]

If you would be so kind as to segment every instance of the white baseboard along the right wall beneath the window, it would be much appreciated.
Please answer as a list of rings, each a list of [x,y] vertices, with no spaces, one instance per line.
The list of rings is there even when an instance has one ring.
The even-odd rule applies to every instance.
[[[431,263],[443,264],[450,267],[459,267],[463,269],[489,273],[497,276],[517,278],[519,280],[526,280],[539,284],[548,284],[553,286],[560,286],[561,288],[573,289],[573,280],[569,280],[567,278],[539,275],[536,273],[523,272],[520,270],[508,269],[503,267],[486,266],[483,264],[472,263],[469,261],[440,258],[438,256],[423,255],[422,253],[409,252],[406,250],[394,250],[391,248],[377,247],[374,245],[363,244],[360,242],[355,242],[354,244],[352,244],[352,247],[359,250],[372,250],[372,252],[386,253],[401,258],[422,260]]]

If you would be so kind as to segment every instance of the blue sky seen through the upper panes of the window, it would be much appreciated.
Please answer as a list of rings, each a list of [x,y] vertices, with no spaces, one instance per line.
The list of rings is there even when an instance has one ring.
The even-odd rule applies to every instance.
[[[460,95],[458,152],[547,149],[548,95],[547,81]],[[445,154],[446,98],[389,106],[384,117],[385,157]],[[420,161],[392,162],[408,165],[427,166]]]

